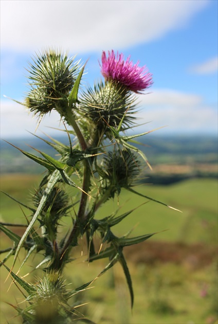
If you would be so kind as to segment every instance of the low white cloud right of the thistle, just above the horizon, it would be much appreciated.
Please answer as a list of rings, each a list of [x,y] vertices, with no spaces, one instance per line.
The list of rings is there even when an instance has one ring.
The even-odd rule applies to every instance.
[[[140,105],[140,122],[151,121],[149,126],[143,127],[146,131],[167,126],[165,132],[217,132],[216,107],[204,104],[200,96],[171,89],[154,89],[153,93],[143,96]]]

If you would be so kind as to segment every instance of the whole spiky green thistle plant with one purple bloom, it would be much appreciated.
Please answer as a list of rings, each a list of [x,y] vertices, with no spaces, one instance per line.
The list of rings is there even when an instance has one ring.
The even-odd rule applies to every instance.
[[[133,64],[130,57],[124,61],[123,55],[115,55],[113,50],[108,54],[103,51],[100,70],[104,80],[87,88],[80,85],[85,65],[57,50],[39,53],[29,65],[29,91],[22,104],[39,122],[44,115],[56,110],[64,123],[69,145],[51,137],[41,138],[57,151],[58,159],[37,149],[41,156],[19,149],[46,169],[29,205],[11,197],[29,211],[24,235],[20,237],[10,229],[10,224],[1,223],[1,230],[13,241],[13,247],[7,249],[8,254],[1,264],[8,269],[16,285],[26,291],[27,307],[14,305],[23,323],[91,322],[79,315],[77,302],[70,303],[70,300],[88,289],[96,278],[71,291],[66,289],[63,278],[64,267],[74,260],[73,247],[80,244],[83,237],[87,242],[87,262],[108,259],[99,276],[120,262],[133,307],[132,281],[123,249],[149,239],[154,233],[117,237],[113,226],[130,217],[133,210],[119,215],[115,212],[99,217],[99,214],[101,206],[117,199],[122,189],[143,196],[145,202],[152,200],[170,207],[133,189],[144,165],[150,167],[144,153],[133,145],[134,138],[149,132],[125,134],[135,127],[137,95],[152,85],[152,75],[138,64]],[[69,194],[68,187],[77,190],[76,198]],[[73,222],[63,233],[66,217]],[[100,250],[94,244],[96,233]],[[35,282],[28,282],[13,271],[21,249],[26,250],[26,256],[20,269],[31,256],[40,253],[40,263],[34,268],[41,268],[42,276]],[[11,268],[6,265],[10,257],[13,257]]]

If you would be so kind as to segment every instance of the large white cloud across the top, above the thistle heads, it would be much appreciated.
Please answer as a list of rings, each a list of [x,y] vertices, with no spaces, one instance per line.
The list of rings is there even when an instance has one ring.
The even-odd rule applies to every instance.
[[[1,1],[1,47],[99,51],[149,42],[186,26],[207,0]]]

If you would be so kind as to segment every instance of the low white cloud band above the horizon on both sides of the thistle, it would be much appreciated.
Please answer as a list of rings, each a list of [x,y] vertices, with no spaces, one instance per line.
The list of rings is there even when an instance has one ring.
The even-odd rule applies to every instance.
[[[146,132],[155,128],[167,125],[165,130],[158,131],[158,134],[166,132],[177,132],[181,134],[213,133],[217,132],[217,110],[215,107],[204,104],[204,98],[193,94],[176,92],[172,89],[154,89],[148,95],[139,96],[140,112],[136,115],[138,123],[150,122],[139,127],[138,132]],[[4,100],[1,104],[1,137],[29,136],[34,133],[37,120],[28,114],[22,105]],[[59,131],[49,129],[53,127],[64,129],[60,124],[60,116],[52,111],[46,116],[37,130],[51,136],[60,135]],[[135,129],[136,130],[136,129]]]

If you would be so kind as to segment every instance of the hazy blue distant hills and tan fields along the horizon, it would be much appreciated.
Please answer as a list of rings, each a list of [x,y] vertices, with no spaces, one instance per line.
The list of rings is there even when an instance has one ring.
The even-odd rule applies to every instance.
[[[49,140],[48,138],[46,138]],[[57,137],[68,144],[68,138]],[[148,157],[156,173],[149,174],[151,180],[160,174],[170,174],[174,179],[192,174],[214,176],[217,174],[217,138],[214,136],[154,136],[149,134],[139,137],[142,145],[138,146]],[[57,152],[37,137],[14,138],[10,143],[22,150],[40,156],[32,148],[45,152],[58,159]],[[163,167],[165,166],[165,167]],[[180,166],[180,171],[178,171]],[[183,168],[181,168],[183,166]],[[186,166],[186,168],[184,168]],[[187,166],[189,171],[187,171]],[[177,169],[176,169],[177,167]],[[190,172],[191,168],[191,172]],[[1,140],[1,173],[41,173],[44,168],[28,159],[19,150]]]

